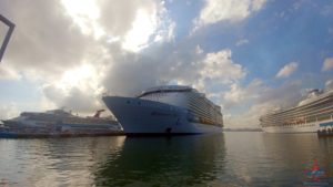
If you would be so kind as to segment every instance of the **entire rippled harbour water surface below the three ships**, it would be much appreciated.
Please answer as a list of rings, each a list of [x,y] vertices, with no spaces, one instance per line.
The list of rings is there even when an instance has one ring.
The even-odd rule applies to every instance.
[[[311,175],[314,160],[320,178]],[[324,179],[323,179],[324,178]],[[333,185],[333,138],[224,133],[0,139],[2,186]]]

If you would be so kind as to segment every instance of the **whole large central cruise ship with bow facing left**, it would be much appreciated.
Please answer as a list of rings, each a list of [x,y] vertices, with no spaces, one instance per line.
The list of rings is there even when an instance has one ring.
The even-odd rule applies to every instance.
[[[157,86],[135,97],[103,96],[128,135],[222,132],[221,107],[195,89]]]

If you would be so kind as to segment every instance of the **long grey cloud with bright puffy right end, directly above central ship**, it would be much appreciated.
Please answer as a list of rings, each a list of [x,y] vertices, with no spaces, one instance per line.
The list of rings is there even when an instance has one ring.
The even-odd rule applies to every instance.
[[[170,82],[192,85],[204,92],[213,85],[228,86],[245,76],[245,69],[231,58],[229,49],[204,53],[199,45],[188,42],[179,46],[159,45],[145,55],[115,53],[112,61],[121,63],[108,69],[102,84],[111,94],[129,96]]]

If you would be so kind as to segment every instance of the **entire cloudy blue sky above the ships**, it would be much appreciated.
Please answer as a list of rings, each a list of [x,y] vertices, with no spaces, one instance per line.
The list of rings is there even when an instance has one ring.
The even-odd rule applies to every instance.
[[[0,118],[105,108],[191,85],[221,105],[225,127],[333,87],[331,0],[0,0],[16,24],[0,63]],[[0,24],[0,41],[7,27]]]

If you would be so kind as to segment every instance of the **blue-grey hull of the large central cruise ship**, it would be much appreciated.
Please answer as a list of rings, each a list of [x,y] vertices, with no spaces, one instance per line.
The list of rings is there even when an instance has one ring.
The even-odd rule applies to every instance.
[[[103,101],[128,135],[222,132],[219,126],[190,123],[188,112],[179,106],[121,96],[105,96]]]

